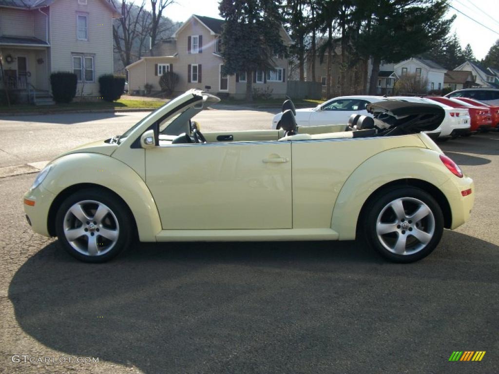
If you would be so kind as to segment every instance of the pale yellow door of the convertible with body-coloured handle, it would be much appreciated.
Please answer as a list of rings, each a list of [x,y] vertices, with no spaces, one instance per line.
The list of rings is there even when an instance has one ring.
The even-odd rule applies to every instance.
[[[291,144],[234,142],[145,150],[163,229],[291,228]]]

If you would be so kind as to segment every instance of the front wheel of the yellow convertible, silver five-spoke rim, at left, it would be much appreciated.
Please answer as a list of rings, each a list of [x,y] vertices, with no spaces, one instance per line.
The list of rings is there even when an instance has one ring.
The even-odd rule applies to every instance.
[[[85,262],[108,261],[134,239],[128,208],[106,190],[91,188],[70,195],[55,220],[61,246]]]

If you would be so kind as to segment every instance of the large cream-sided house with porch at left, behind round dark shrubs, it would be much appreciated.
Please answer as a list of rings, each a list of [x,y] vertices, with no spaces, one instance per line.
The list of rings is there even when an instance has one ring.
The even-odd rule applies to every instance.
[[[99,95],[98,78],[113,73],[113,18],[107,0],[0,0],[0,87],[21,97],[48,97],[50,73],[72,71],[77,92]]]

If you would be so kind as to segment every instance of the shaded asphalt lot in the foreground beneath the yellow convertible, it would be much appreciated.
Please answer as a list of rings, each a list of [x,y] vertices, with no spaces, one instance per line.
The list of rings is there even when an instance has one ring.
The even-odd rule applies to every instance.
[[[233,118],[266,125],[256,116]],[[124,126],[80,125],[37,124],[47,136],[31,148],[48,156],[50,132],[80,143],[93,140],[85,128],[100,137]],[[0,179],[0,372],[498,373],[499,133],[441,146],[475,179],[476,205],[409,265],[360,241],[141,244],[84,264],[25,223],[33,175]],[[29,152],[17,156],[34,161]],[[455,363],[453,351],[487,353]],[[68,363],[78,357],[99,363]]]

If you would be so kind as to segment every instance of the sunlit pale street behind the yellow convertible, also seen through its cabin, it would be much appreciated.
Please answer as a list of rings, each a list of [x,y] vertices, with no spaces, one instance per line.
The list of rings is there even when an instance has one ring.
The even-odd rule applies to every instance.
[[[204,131],[269,129],[278,110],[219,110],[194,120]],[[0,117],[0,168],[51,160],[81,144],[123,134],[148,112],[78,113]]]

